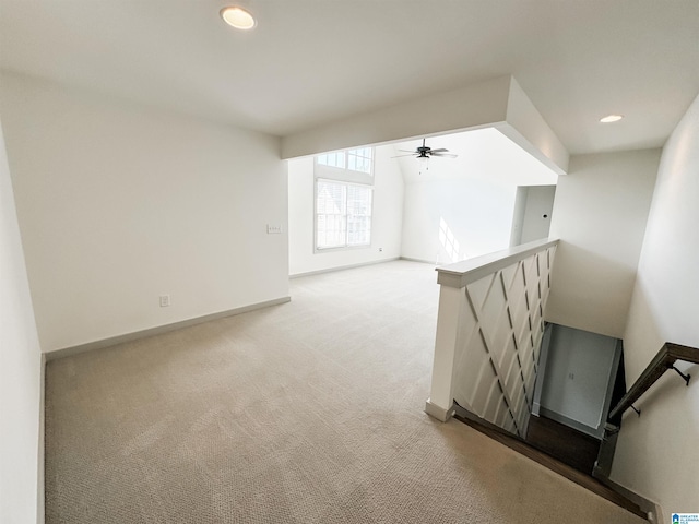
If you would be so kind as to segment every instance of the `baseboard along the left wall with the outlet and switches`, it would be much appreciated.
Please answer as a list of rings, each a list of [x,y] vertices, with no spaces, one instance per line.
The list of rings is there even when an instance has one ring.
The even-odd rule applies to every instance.
[[[235,314],[247,313],[257,309],[268,308],[270,306],[277,306],[280,303],[286,303],[292,300],[292,297],[281,297],[272,300],[265,300],[263,302],[251,303],[249,306],[242,306],[240,308],[229,309],[226,311],[220,311],[217,313],[204,314],[202,317],[196,317],[193,319],[181,320],[179,322],[173,322],[171,324],[157,325],[147,330],[134,331],[133,333],[125,333],[123,335],[111,336],[109,338],[103,338],[100,341],[88,342],[79,346],[63,347],[54,352],[47,352],[47,361],[56,360],[57,358],[69,357],[71,355],[78,355],[80,353],[92,352],[93,349],[102,349],[104,347],[114,346],[116,344],[122,344],[125,342],[137,341],[139,338],[145,338],[146,336],[159,335],[168,333],[170,331],[181,330],[182,327],[189,327],[190,325],[201,324],[209,322],[210,320],[223,319],[225,317],[233,317]]]

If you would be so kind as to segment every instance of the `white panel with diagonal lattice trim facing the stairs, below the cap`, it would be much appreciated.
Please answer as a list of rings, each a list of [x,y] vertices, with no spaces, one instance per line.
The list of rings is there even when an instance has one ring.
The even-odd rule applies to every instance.
[[[453,395],[459,405],[523,437],[534,400],[544,309],[556,246],[461,290]]]

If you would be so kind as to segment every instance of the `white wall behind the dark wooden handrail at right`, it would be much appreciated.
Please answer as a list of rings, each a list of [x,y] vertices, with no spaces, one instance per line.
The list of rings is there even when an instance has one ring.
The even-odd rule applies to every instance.
[[[665,144],[625,333],[627,384],[664,342],[699,347],[699,97]],[[670,512],[699,511],[699,366],[665,373],[624,418],[612,478]]]

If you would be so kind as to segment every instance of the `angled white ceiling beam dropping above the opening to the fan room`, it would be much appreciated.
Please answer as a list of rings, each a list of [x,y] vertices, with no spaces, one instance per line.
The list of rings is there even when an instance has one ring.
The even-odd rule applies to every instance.
[[[482,128],[497,128],[554,172],[566,172],[568,151],[512,76],[402,102],[284,136],[282,156],[294,158]]]

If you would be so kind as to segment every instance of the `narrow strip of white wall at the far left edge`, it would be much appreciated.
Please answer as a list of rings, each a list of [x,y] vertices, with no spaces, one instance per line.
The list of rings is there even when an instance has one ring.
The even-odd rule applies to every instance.
[[[0,128],[0,522],[37,522],[40,377],[40,349]]]

